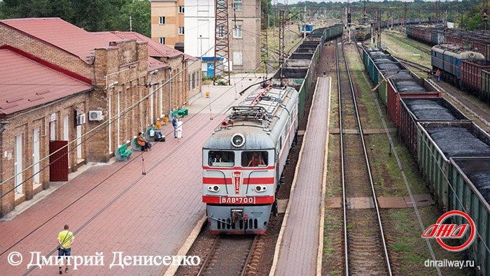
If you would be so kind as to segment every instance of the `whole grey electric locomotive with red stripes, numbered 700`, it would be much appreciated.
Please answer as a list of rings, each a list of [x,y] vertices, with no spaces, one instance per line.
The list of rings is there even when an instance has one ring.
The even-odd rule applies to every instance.
[[[202,147],[202,201],[211,233],[265,233],[277,215],[276,192],[297,135],[293,87],[257,89]]]

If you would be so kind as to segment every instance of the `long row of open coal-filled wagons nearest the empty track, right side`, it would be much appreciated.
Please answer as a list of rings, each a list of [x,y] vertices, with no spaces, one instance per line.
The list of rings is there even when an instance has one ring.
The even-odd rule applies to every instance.
[[[364,49],[363,62],[379,98],[444,211],[459,210],[475,222],[478,239],[468,258],[490,275],[490,136],[388,52]],[[384,94],[385,96],[382,96]],[[456,218],[456,224],[465,221]],[[468,240],[470,231],[462,242]]]

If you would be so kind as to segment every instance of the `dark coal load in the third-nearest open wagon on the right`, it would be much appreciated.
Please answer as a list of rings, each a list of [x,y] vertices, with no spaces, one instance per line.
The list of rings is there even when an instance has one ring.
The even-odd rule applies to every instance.
[[[440,103],[430,100],[414,100],[405,101],[407,108],[414,113],[415,117],[419,120],[440,120],[440,121],[453,121],[458,118],[454,116],[451,111]]]

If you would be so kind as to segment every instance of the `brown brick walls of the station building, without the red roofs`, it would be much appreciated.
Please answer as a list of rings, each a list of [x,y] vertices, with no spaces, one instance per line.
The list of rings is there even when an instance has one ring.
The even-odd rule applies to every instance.
[[[95,49],[91,64],[87,64],[69,52],[0,25],[0,45],[3,44],[11,45],[29,55],[91,80],[94,90],[59,99],[52,105],[24,110],[3,118],[2,122],[8,121],[8,124],[6,130],[0,134],[0,182],[6,181],[0,187],[0,194],[3,196],[0,199],[0,217],[13,210],[15,205],[22,201],[30,200],[42,189],[48,189],[49,185],[49,161],[46,159],[40,164],[41,169],[47,168],[41,170],[40,183],[32,184],[32,180],[27,180],[32,176],[32,169],[29,168],[22,173],[22,179],[27,180],[22,185],[22,193],[13,192],[14,180],[10,177],[14,175],[15,136],[22,133],[22,143],[25,145],[22,148],[22,168],[25,169],[32,165],[33,129],[40,128],[42,159],[49,155],[51,114],[55,114],[57,140],[64,138],[63,118],[68,115],[69,142],[73,142],[77,138],[74,124],[75,110],[85,113],[87,120],[81,127],[83,135],[86,136],[82,139],[84,143],[81,144],[80,159],[77,158],[77,151],[74,148],[76,143],[69,146],[71,150],[69,166],[71,171],[74,171],[87,161],[109,161],[120,145],[130,143],[137,133],[146,131],[151,124],[162,119],[163,116],[168,116],[172,110],[181,109],[189,102],[190,91],[200,90],[200,86],[190,89],[188,85],[189,70],[193,70],[193,67],[186,68],[188,61],[183,60],[183,55],[162,58],[169,67],[148,75],[148,43],[136,39],[116,41],[108,47]],[[180,72],[181,74],[178,74]],[[165,84],[169,78],[173,78],[172,81]],[[148,85],[150,82],[159,85]],[[139,102],[154,91],[155,93],[148,98],[152,100]],[[104,119],[91,121],[90,110],[102,111]]]

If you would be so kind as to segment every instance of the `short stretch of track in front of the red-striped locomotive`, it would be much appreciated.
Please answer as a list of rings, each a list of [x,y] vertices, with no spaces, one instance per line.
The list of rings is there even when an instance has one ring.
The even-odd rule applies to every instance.
[[[246,275],[257,235],[217,235],[197,276]]]

